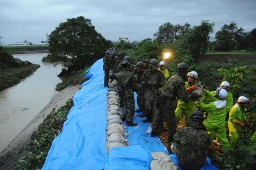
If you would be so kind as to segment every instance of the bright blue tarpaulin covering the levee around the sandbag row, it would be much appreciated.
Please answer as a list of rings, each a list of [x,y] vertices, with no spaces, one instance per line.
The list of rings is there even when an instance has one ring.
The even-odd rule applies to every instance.
[[[100,59],[88,69],[85,77],[90,80],[73,97],[74,106],[42,170],[149,170],[151,153],[169,154],[158,137],[150,136],[150,123],[142,122],[145,118],[139,117],[141,113],[135,113],[137,126],[126,128],[130,146],[113,148],[106,154],[108,89],[103,85],[102,65]]]

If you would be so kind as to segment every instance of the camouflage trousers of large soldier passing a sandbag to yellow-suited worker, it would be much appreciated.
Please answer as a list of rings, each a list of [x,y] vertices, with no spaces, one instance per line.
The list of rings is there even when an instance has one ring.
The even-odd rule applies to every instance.
[[[168,128],[168,142],[173,141],[173,136],[176,133],[176,117],[175,117],[175,107],[176,103],[171,100],[167,100],[166,103],[159,103],[158,109],[156,109],[154,121],[151,125],[152,130],[159,131],[159,127],[163,125],[163,118],[166,122]]]

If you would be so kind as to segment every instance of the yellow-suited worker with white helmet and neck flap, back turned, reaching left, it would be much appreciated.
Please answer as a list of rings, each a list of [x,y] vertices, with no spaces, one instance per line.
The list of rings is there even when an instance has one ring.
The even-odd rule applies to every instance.
[[[219,87],[216,90],[215,100],[209,104],[205,104],[203,99],[198,99],[201,109],[208,112],[207,119],[204,120],[203,124],[206,130],[211,132],[215,131],[224,152],[230,151],[230,145],[226,135],[225,129],[225,118],[226,118],[226,100],[228,92]],[[211,136],[210,136],[211,138]],[[213,141],[213,139],[211,139]]]

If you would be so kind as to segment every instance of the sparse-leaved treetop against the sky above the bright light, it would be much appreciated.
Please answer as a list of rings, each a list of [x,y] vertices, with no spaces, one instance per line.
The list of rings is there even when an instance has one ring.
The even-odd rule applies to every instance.
[[[190,33],[190,24],[184,26],[177,24],[173,25],[169,22],[159,26],[158,31],[154,33],[154,41],[157,43],[172,43]]]

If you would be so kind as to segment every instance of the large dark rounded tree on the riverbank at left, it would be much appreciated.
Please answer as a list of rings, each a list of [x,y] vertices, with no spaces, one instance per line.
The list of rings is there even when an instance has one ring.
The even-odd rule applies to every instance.
[[[77,71],[105,54],[112,43],[97,33],[90,19],[80,16],[60,23],[49,35],[50,61],[64,61],[68,71]]]

